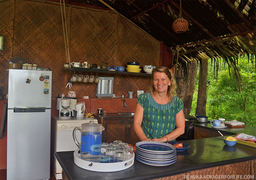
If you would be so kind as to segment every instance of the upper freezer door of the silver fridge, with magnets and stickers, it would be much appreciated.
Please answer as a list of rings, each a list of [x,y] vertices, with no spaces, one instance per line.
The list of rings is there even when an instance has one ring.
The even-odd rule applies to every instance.
[[[52,71],[9,69],[8,108],[51,108]]]

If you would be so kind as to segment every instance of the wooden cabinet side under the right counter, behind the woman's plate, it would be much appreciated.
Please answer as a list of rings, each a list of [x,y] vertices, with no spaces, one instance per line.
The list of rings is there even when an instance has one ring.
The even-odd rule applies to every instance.
[[[228,136],[231,134],[221,132],[223,136]],[[211,138],[211,137],[218,137],[220,134],[216,130],[207,129],[203,127],[197,127],[194,128],[194,139],[202,139],[202,138]]]

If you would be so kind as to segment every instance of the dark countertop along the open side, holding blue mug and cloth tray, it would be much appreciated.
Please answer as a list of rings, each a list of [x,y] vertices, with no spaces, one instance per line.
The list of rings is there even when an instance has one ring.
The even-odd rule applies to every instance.
[[[236,135],[236,134],[239,134],[239,133],[244,133],[244,134],[247,134],[247,135],[256,136],[256,128],[255,127],[250,127],[250,126],[213,128],[213,127],[211,127],[212,124],[206,124],[206,123],[193,124],[193,125],[198,126],[198,127],[211,129],[211,130],[215,130],[215,131],[220,131],[221,133],[224,132],[224,133],[227,133],[227,134],[230,134],[230,135]]]

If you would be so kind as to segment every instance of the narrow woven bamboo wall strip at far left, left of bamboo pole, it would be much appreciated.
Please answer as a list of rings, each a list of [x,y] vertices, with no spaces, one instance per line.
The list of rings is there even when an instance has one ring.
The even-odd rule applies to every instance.
[[[11,38],[13,26],[13,1],[7,1],[0,8],[0,35],[4,36],[4,51],[0,51],[0,86],[3,86],[2,93],[8,92],[8,62],[11,58]]]

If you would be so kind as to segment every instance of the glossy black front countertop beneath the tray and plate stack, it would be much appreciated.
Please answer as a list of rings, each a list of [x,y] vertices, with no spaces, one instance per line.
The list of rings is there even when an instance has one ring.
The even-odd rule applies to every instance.
[[[116,172],[94,172],[74,163],[73,152],[55,152],[67,177],[71,179],[154,179],[198,169],[256,159],[256,149],[236,143],[227,146],[222,137],[180,141],[191,147],[177,151],[177,161],[168,166],[150,166],[135,159],[133,166]]]

